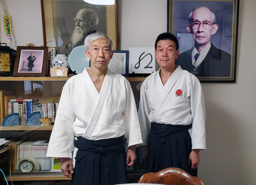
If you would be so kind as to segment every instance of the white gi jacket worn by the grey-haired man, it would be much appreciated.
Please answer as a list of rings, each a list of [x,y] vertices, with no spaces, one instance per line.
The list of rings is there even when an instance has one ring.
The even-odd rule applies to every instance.
[[[46,156],[72,158],[75,137],[99,140],[122,135],[127,147],[142,144],[130,83],[108,69],[99,93],[84,69],[63,87]]]

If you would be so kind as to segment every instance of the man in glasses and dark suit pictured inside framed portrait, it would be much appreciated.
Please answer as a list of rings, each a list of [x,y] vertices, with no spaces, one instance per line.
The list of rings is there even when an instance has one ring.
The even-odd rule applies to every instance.
[[[231,55],[211,44],[211,35],[218,30],[215,14],[199,7],[188,16],[188,33],[192,34],[194,47],[176,59],[176,65],[197,77],[229,77]]]

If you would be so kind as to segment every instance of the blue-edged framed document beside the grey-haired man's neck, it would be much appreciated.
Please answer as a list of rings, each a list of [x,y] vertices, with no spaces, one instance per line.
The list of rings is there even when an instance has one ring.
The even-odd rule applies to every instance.
[[[128,50],[113,50],[114,55],[109,61],[108,68],[125,77],[129,76],[129,51]]]

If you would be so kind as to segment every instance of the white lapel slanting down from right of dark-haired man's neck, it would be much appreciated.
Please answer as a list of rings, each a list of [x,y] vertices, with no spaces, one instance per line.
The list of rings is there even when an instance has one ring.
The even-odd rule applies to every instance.
[[[181,67],[177,67],[177,69],[172,73],[172,75],[169,77],[168,81],[166,82],[166,84],[163,87],[163,90],[159,96],[159,100],[156,103],[156,108],[155,108],[155,112],[154,112],[154,116],[153,116],[153,120],[155,123],[157,123],[157,116],[159,115],[160,109],[162,107],[164,98],[166,98],[166,94],[169,91],[170,88],[173,87],[173,81],[176,77],[178,77],[179,73],[182,71]]]

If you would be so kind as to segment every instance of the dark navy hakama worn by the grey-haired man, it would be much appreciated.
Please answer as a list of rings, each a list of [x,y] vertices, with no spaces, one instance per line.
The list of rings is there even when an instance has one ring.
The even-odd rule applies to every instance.
[[[125,143],[124,136],[102,140],[78,137],[72,185],[127,183]]]

